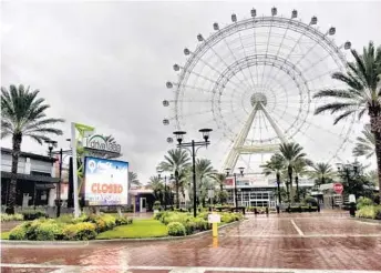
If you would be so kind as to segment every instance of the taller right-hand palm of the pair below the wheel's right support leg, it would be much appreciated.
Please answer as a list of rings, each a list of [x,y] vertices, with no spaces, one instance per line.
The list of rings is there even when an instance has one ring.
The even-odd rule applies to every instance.
[[[288,184],[289,184],[289,201],[292,200],[292,172],[295,164],[299,160],[306,158],[306,153],[302,152],[303,148],[298,143],[281,143],[279,146],[280,155],[284,160],[285,166],[287,168]]]

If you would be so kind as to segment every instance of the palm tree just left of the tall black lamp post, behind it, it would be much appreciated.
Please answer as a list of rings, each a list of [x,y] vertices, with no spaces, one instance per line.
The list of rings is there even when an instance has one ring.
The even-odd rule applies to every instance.
[[[176,208],[179,208],[179,174],[181,172],[189,166],[190,158],[187,151],[182,149],[172,149],[162,161],[157,170],[161,172],[172,172],[175,175],[175,188],[176,188]]]

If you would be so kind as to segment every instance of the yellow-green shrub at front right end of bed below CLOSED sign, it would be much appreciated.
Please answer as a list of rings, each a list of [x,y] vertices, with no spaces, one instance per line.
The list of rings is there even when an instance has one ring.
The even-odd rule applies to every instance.
[[[94,223],[82,222],[69,224],[63,229],[63,237],[65,240],[92,240],[96,236],[96,225]]]

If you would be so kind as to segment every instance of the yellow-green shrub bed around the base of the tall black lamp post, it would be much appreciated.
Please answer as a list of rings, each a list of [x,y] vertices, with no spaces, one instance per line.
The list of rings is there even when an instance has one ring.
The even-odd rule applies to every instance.
[[[183,236],[210,230],[212,225],[207,221],[208,214],[209,212],[202,212],[194,218],[190,213],[166,211],[156,213],[154,218],[167,225],[168,235]],[[219,214],[222,223],[231,223],[244,218],[240,213],[223,212]]]

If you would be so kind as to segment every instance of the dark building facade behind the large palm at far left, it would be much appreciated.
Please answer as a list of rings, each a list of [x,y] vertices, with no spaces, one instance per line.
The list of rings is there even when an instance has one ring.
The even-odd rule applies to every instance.
[[[16,205],[54,206],[55,189],[54,159],[21,152],[18,164]],[[1,148],[1,204],[6,205],[12,168],[12,150]]]

